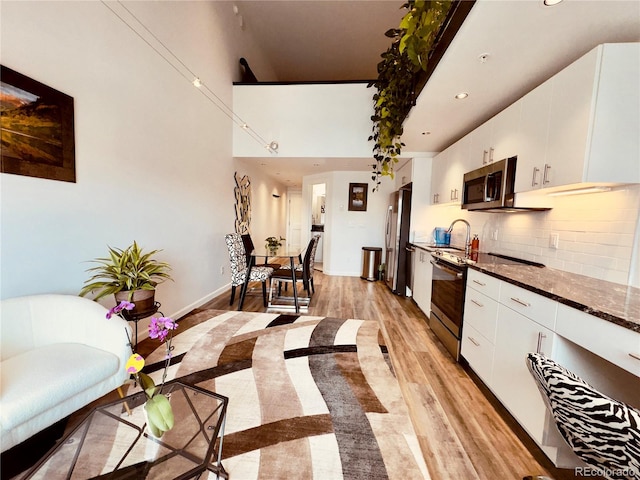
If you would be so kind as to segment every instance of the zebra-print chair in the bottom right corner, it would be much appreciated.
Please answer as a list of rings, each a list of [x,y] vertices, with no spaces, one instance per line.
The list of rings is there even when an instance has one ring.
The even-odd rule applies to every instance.
[[[640,410],[604,395],[539,353],[529,353],[526,362],[574,453],[606,478],[640,480]]]

